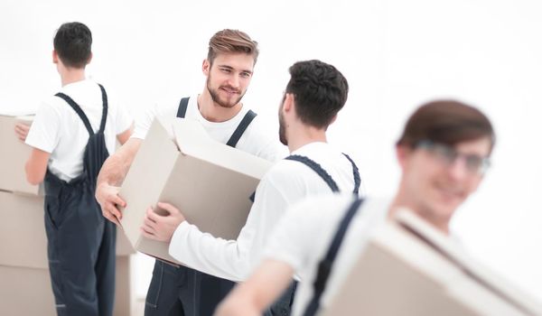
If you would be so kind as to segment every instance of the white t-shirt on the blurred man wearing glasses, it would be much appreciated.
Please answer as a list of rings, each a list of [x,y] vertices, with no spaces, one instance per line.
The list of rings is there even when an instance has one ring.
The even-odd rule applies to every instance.
[[[301,278],[295,292],[292,315],[302,315],[313,298],[318,264],[325,257],[341,219],[350,209],[351,195],[337,194],[304,200],[288,210],[269,237],[262,259],[284,262]],[[332,265],[320,299],[321,310],[332,297],[363,251],[371,232],[383,223],[390,201],[366,199],[352,218]]]

